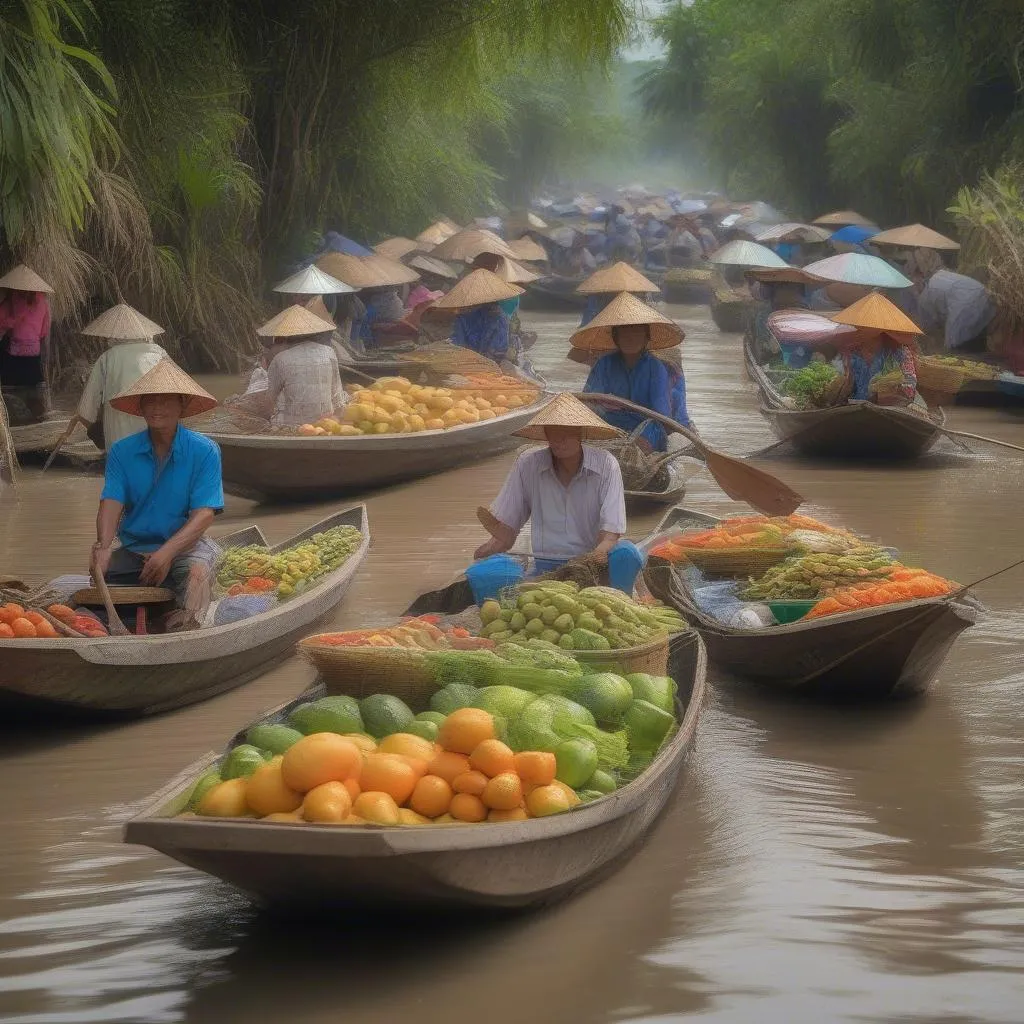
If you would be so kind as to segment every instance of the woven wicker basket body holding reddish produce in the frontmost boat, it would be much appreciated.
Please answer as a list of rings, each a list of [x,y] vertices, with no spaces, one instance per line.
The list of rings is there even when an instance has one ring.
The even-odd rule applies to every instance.
[[[436,691],[426,657],[410,647],[334,647],[316,636],[300,640],[299,653],[311,663],[330,694],[362,699],[393,693],[413,711],[426,711]]]

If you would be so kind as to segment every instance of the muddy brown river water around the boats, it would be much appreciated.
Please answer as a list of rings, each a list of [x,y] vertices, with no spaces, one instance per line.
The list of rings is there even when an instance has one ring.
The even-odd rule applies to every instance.
[[[706,438],[736,453],[770,443],[738,337],[706,307],[671,312]],[[580,383],[563,357],[574,317],[524,319],[539,369]],[[950,420],[1024,443],[1024,417],[1007,411]],[[784,452],[760,464],[809,514],[968,582],[1024,555],[1024,456],[947,444],[912,466]],[[511,460],[369,496],[374,546],[336,625],[393,616],[446,583],[482,539],[474,509]],[[81,570],[98,477],[23,479],[16,502],[0,500],[0,568],[32,581]],[[703,475],[687,501],[739,508]],[[217,525],[255,517],[278,540],[329,507],[232,498]],[[653,522],[631,520],[632,536]],[[989,615],[910,703],[794,703],[713,671],[694,756],[646,845],[581,896],[511,920],[283,922],[121,844],[139,801],[310,681],[296,660],[141,722],[0,724],[0,1020],[1024,1021],[1024,571],[978,596]]]

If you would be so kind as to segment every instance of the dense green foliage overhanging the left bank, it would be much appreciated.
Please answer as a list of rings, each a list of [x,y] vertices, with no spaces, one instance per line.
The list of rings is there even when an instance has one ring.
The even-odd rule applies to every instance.
[[[251,344],[325,227],[415,232],[593,141],[630,0],[0,0],[0,262],[193,364]],[[518,197],[516,197],[518,198]],[[68,345],[60,349],[66,355]]]

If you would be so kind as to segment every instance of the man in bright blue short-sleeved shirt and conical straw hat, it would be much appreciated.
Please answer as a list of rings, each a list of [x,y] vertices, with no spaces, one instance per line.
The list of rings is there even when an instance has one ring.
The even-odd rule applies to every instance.
[[[217,399],[164,359],[111,403],[141,417],[145,429],[106,454],[92,570],[120,586],[168,587],[198,617],[219,556],[204,535],[223,510],[224,492],[220,450],[180,421]]]

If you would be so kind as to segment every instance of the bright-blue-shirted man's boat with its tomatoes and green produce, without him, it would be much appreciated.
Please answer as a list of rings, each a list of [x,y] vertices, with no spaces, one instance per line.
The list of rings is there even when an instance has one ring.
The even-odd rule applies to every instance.
[[[54,580],[0,606],[0,708],[139,717],[240,686],[287,657],[337,607],[366,557],[370,528],[358,505],[272,547],[258,526],[217,543],[223,607],[202,629],[108,636],[95,616],[69,606],[94,603],[86,594],[76,600],[89,586],[83,577]]]

